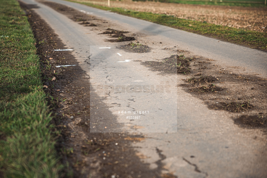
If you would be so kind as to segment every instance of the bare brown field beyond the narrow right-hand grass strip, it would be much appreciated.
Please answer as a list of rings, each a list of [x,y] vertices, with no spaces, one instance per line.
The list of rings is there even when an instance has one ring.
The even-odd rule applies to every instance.
[[[82,0],[107,6],[106,0]],[[191,5],[160,2],[136,2],[131,0],[111,1],[110,7],[125,8],[140,12],[173,15],[181,19],[205,21],[216,25],[267,32],[267,7],[250,8],[235,6]]]

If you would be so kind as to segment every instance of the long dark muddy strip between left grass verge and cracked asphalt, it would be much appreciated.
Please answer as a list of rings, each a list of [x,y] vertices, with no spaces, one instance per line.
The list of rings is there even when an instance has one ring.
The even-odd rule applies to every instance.
[[[44,90],[48,94],[54,124],[61,131],[56,149],[66,166],[62,177],[177,178],[172,174],[161,173],[164,164],[150,169],[149,164],[142,161],[142,157],[131,146],[133,142],[144,140],[145,137],[142,135],[127,135],[119,133],[119,130],[118,133],[90,132],[90,108],[104,105],[96,95],[90,95],[90,76],[78,66],[71,51],[59,50],[64,50],[65,45],[48,24],[30,6],[21,2],[20,4],[26,9],[36,38],[37,53],[43,70]],[[68,15],[79,13],[66,6],[60,6],[58,10]],[[88,18],[95,19],[92,16]],[[91,24],[88,18],[82,18],[83,24]],[[56,67],[63,65],[71,66]],[[94,101],[90,102],[90,98],[94,98]],[[116,118],[112,117],[108,110],[104,112],[114,126],[120,128]],[[101,122],[97,125],[101,128],[107,126],[107,123]]]

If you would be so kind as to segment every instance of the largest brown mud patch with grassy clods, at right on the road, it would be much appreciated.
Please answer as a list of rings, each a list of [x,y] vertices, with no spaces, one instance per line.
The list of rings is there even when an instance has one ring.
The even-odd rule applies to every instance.
[[[213,59],[185,57],[188,53],[185,50],[177,52],[180,55],[141,64],[163,75],[176,72],[186,75],[185,83],[179,86],[202,99],[208,108],[234,113],[234,123],[243,128],[267,132],[267,79],[258,77],[259,74],[239,74],[235,72],[239,67],[218,66],[212,63]]]

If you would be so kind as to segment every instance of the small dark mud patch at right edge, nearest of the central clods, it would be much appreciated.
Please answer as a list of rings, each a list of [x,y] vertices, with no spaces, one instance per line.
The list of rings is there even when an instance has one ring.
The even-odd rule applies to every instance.
[[[267,117],[263,115],[242,115],[234,119],[234,123],[245,128],[263,128],[267,127]]]

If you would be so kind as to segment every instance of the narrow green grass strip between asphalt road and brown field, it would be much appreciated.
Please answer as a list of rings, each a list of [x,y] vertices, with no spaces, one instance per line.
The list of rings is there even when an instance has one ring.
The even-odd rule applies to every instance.
[[[71,1],[71,0],[66,0]],[[220,39],[222,41],[228,41],[231,43],[248,46],[250,48],[267,50],[267,33],[256,32],[252,30],[237,29],[228,26],[215,25],[207,23],[205,21],[192,21],[186,19],[179,19],[166,14],[153,14],[151,12],[137,12],[134,10],[127,10],[122,8],[110,8],[84,1],[71,1],[81,3],[86,6],[99,8],[102,10],[109,10],[118,14],[135,17],[138,19],[158,23],[164,26],[201,34],[204,36]]]

